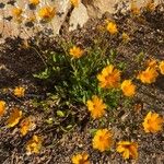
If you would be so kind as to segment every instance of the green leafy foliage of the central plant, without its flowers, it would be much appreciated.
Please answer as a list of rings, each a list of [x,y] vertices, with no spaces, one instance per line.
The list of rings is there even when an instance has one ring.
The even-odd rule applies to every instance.
[[[35,78],[50,80],[55,95],[67,104],[86,104],[93,95],[99,95],[110,107],[116,107],[119,102],[118,90],[103,90],[98,86],[97,74],[107,65],[114,63],[117,52],[110,49],[104,51],[98,46],[85,49],[81,58],[72,58],[69,55],[71,44],[61,45],[60,52],[47,52],[47,68],[45,71],[35,74]],[[106,48],[107,49],[107,48]],[[118,66],[124,69],[124,63]],[[65,114],[58,112],[61,117]]]

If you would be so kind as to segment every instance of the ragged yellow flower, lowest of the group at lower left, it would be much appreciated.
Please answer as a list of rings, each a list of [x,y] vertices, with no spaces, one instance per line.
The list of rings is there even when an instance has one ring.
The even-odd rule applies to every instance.
[[[26,143],[27,154],[39,153],[42,149],[43,139],[36,134]]]

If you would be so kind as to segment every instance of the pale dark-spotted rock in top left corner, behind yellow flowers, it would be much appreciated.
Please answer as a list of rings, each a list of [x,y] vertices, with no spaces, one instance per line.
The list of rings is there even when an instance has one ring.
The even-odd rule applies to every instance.
[[[0,1],[0,2],[5,3],[5,8],[0,9],[0,32],[3,33],[3,38],[5,38],[8,36],[17,36],[17,35],[21,35],[24,38],[32,36],[34,33],[33,30],[27,31],[27,28],[24,27],[24,25],[17,24],[17,22],[15,22],[14,20],[7,21],[3,19],[3,17],[8,17],[8,16],[12,15],[13,5],[7,4],[8,1],[9,0]],[[37,11],[39,10],[39,8],[42,5],[48,4],[50,7],[55,7],[57,15],[52,19],[52,21],[50,23],[47,23],[47,24],[36,23],[35,24],[37,26],[37,30],[42,30],[45,26],[52,28],[55,35],[59,34],[61,25],[66,21],[68,11],[71,8],[70,0],[55,0],[55,1],[46,0],[46,3],[42,3],[34,11],[30,10],[27,0],[16,0],[15,4],[23,9],[24,20],[25,20],[25,17],[28,17],[30,15],[32,15],[33,12],[37,13]],[[23,22],[23,24],[24,24],[24,22]],[[22,32],[20,31],[21,26],[22,26]]]

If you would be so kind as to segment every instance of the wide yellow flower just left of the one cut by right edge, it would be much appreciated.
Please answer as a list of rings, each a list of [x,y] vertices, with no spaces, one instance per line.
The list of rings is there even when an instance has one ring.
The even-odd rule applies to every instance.
[[[147,70],[138,74],[137,79],[140,79],[142,83],[151,84],[156,81],[157,75],[156,68],[148,67]]]

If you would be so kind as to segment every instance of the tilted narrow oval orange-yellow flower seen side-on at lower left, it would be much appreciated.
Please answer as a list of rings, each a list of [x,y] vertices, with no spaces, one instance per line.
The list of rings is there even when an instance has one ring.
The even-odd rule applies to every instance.
[[[19,110],[17,108],[13,109],[11,115],[9,116],[7,122],[8,127],[14,127],[15,125],[19,124],[20,119],[22,118],[22,110]]]

